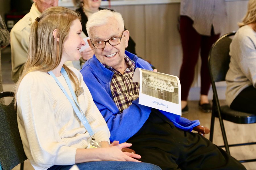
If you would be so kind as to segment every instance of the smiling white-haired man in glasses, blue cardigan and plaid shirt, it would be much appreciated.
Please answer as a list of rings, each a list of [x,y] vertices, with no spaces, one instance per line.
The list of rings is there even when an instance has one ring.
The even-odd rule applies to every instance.
[[[132,82],[137,67],[149,63],[125,51],[129,31],[121,14],[100,10],[86,29],[94,56],[81,73],[111,132],[110,140],[132,143],[141,161],[162,169],[245,169],[224,150],[190,130],[199,121],[138,103],[139,87]]]

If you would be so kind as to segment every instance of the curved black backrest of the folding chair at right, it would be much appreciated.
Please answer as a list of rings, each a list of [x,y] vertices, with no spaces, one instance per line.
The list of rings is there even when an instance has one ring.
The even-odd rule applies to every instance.
[[[212,81],[225,81],[230,63],[230,36],[235,35],[235,31],[220,37],[213,45],[209,53],[208,66]]]

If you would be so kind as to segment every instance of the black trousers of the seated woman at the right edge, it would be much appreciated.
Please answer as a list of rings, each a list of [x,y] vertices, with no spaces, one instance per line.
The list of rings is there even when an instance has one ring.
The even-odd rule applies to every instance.
[[[233,100],[230,108],[236,111],[256,114],[256,89],[253,86],[243,89]]]

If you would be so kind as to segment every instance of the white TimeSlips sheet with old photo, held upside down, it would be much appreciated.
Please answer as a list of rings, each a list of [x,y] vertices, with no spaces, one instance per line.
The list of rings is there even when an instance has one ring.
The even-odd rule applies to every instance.
[[[181,115],[181,88],[177,76],[136,68],[133,82],[140,82],[139,104]]]

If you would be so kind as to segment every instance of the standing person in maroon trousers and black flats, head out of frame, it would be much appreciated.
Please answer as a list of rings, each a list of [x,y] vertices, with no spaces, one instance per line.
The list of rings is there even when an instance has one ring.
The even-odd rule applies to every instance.
[[[212,44],[220,37],[226,16],[225,0],[181,0],[179,28],[183,59],[179,80],[182,113],[188,112],[187,97],[194,79],[199,50],[202,61],[199,109],[203,112],[212,110],[208,100],[208,54]]]

